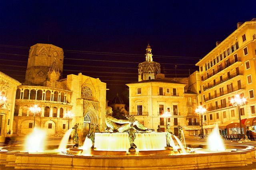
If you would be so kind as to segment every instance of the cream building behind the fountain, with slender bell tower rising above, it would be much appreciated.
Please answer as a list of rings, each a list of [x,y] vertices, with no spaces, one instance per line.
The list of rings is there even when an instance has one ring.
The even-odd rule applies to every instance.
[[[129,87],[129,115],[150,129],[166,131],[164,112],[170,113],[167,123],[175,135],[178,125],[185,128],[185,135],[198,131],[198,115],[194,113],[197,94],[188,91],[188,78],[165,78],[160,74],[160,64],[153,62],[151,48],[146,48],[146,61],[138,65],[138,82]]]

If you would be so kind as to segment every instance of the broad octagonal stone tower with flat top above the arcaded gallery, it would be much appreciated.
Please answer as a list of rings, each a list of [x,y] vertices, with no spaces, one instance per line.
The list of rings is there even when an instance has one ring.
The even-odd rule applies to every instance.
[[[63,49],[51,44],[30,47],[25,84],[56,87],[63,70]]]

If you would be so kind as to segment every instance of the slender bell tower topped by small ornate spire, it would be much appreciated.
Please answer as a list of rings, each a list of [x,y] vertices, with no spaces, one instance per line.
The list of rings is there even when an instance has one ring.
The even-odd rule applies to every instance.
[[[160,74],[160,64],[153,61],[150,45],[146,48],[146,61],[138,65],[138,81],[156,79],[156,74]]]

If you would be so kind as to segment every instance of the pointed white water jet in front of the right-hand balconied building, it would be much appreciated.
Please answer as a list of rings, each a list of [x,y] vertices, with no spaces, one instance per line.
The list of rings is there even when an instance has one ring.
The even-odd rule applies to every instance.
[[[224,151],[225,150],[223,141],[220,137],[218,124],[216,124],[212,133],[209,135],[207,142],[208,142],[208,148],[210,150],[215,150],[215,151]]]

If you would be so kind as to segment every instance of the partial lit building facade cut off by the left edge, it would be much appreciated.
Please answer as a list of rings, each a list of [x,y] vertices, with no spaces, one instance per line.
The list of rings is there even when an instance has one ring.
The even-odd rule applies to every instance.
[[[17,86],[21,83],[0,72],[0,137],[12,135],[13,112]],[[9,135],[9,134],[8,134]]]

